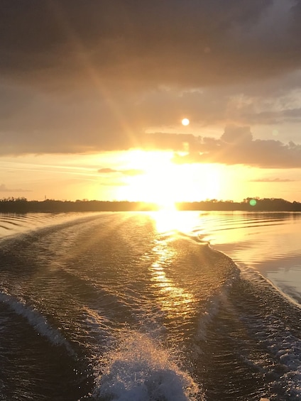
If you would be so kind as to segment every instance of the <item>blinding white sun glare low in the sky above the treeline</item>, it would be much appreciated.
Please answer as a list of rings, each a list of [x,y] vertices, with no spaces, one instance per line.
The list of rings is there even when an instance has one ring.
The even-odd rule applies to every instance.
[[[194,170],[192,165],[173,163],[172,152],[132,150],[129,168],[143,174],[126,177],[119,198],[153,202],[160,209],[175,210],[175,202],[214,199],[219,193],[219,171],[214,165]]]

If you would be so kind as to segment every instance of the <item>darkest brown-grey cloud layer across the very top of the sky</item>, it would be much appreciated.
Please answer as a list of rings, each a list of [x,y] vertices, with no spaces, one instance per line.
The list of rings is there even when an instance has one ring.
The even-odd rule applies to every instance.
[[[288,21],[299,21],[291,6],[273,0],[4,0],[0,71],[58,89],[58,83],[198,86],[277,75],[300,62],[295,32],[288,31]],[[285,38],[273,47],[263,29],[272,17],[278,23],[273,35]],[[279,56],[284,49],[286,60]],[[261,65],[258,57],[264,57]]]

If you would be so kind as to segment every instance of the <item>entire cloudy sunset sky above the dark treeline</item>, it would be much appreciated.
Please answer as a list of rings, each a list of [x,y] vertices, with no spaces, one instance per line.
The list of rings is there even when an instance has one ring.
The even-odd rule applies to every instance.
[[[1,0],[0,199],[301,202],[300,50],[300,0]]]

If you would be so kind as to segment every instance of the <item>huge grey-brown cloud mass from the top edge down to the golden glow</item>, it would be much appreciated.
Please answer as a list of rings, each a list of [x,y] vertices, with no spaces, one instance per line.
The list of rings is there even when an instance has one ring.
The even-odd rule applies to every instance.
[[[300,123],[300,9],[295,0],[2,0],[0,156],[188,145],[198,158],[199,138],[160,131],[182,116],[199,126]]]

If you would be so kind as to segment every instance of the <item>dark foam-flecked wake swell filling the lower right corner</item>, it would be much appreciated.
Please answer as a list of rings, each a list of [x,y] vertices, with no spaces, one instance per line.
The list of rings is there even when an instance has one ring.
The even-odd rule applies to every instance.
[[[241,271],[197,339],[208,399],[300,400],[300,329],[300,307],[263,276]]]

